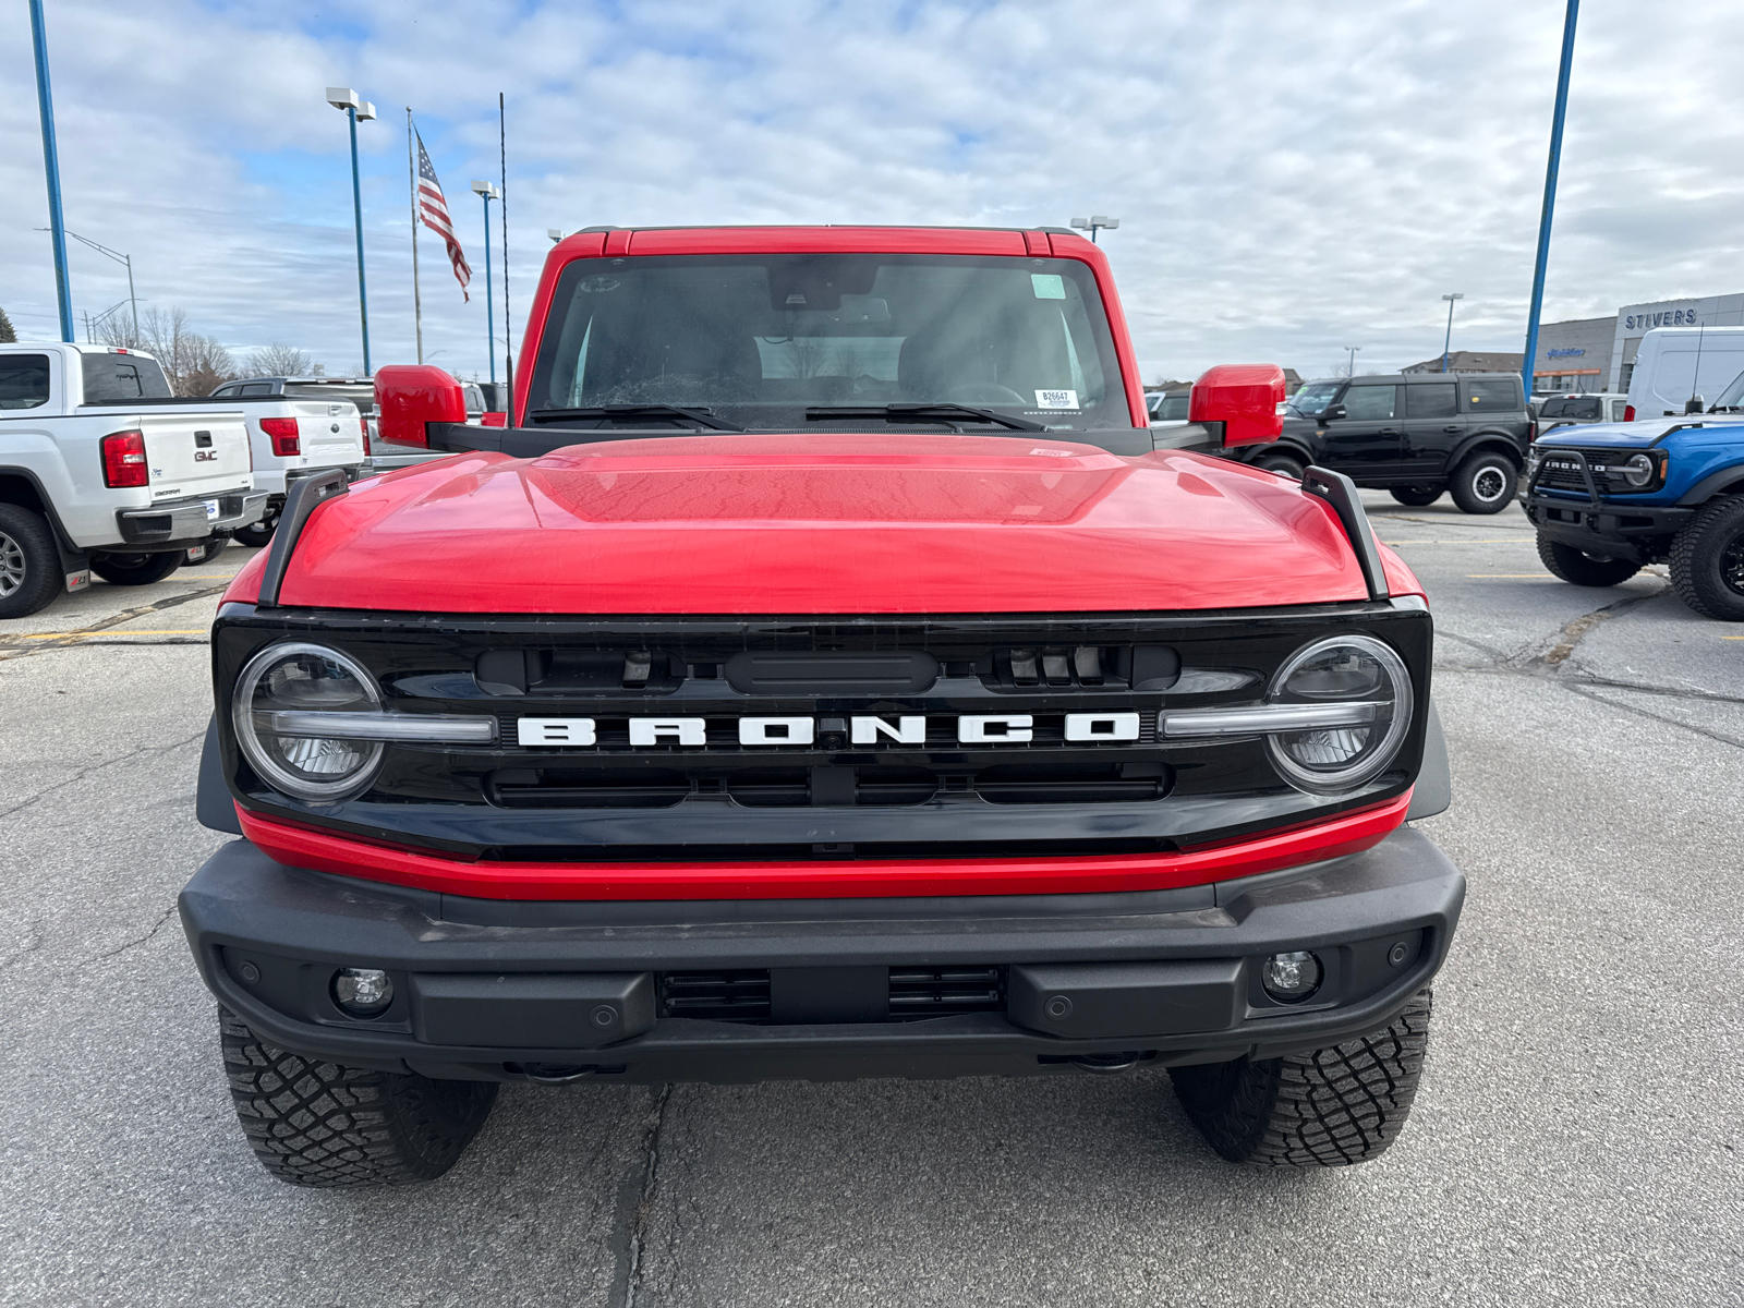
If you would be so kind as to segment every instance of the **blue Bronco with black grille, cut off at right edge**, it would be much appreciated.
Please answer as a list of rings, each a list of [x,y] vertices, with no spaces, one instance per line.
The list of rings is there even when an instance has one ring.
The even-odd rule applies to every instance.
[[[1702,617],[1744,623],[1744,373],[1700,412],[1563,427],[1526,455],[1538,558],[1575,586],[1669,563]]]

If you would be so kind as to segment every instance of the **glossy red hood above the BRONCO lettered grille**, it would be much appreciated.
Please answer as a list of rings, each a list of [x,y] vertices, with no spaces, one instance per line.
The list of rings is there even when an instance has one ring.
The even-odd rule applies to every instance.
[[[1390,551],[1386,551],[1390,555]],[[253,600],[263,556],[227,598]],[[1395,591],[1416,591],[1388,556]],[[309,520],[288,605],[499,614],[1226,609],[1366,596],[1270,473],[1048,436],[682,436],[455,455]]]

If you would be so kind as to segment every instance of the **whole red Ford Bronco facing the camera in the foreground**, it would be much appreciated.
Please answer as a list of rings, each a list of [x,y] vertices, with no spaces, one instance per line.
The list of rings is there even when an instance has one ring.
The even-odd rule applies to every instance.
[[[1404,1125],[1465,882],[1432,624],[1277,368],[1151,429],[1062,230],[595,228],[499,426],[300,481],[213,628],[181,895],[267,1168],[502,1081],[1167,1069],[1224,1158]]]

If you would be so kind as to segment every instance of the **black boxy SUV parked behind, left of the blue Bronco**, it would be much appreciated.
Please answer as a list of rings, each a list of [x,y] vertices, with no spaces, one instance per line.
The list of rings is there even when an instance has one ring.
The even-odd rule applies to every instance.
[[[1514,373],[1393,373],[1308,382],[1273,445],[1228,457],[1287,476],[1318,464],[1390,490],[1400,504],[1434,504],[1449,490],[1465,513],[1500,513],[1531,438]]]

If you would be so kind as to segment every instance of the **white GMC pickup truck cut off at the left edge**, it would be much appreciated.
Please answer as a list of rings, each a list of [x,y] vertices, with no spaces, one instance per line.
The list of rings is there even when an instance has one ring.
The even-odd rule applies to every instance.
[[[173,398],[138,351],[0,345],[0,619],[92,572],[162,581],[265,508],[239,408]]]

